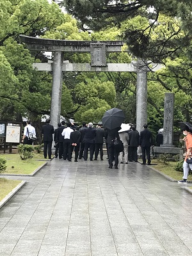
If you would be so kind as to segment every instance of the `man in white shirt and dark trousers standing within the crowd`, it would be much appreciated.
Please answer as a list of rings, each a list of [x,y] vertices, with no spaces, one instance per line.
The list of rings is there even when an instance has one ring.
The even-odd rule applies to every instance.
[[[71,123],[68,122],[67,128],[63,129],[63,132],[61,133],[61,135],[64,138],[64,140],[63,140],[63,159],[64,160],[68,159],[68,161],[71,161],[71,159],[70,159],[70,134],[71,134],[71,132],[74,131],[70,127],[71,127]]]

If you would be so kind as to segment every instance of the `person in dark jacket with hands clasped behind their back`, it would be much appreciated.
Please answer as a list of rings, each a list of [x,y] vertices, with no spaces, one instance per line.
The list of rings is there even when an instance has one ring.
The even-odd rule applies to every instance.
[[[75,162],[78,162],[80,141],[81,132],[77,131],[76,127],[75,131],[70,134],[70,160],[72,159],[72,152],[75,151]]]

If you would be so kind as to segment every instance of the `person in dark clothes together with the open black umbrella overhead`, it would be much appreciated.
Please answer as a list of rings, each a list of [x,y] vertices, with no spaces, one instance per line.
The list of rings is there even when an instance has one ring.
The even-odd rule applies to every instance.
[[[115,160],[115,169],[118,169],[119,150],[115,147],[115,140],[120,140],[118,131],[120,131],[120,125],[124,120],[124,112],[118,108],[109,109],[102,116],[102,126],[106,128],[106,143],[108,144],[110,169],[113,167],[113,159]]]

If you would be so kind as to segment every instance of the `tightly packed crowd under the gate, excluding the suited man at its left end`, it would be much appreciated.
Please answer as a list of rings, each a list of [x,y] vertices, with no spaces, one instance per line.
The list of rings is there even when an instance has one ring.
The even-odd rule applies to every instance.
[[[103,145],[106,143],[107,159],[109,168],[118,169],[118,159],[120,154],[120,163],[138,162],[138,147],[141,146],[142,164],[150,164],[150,147],[153,145],[152,132],[148,131],[148,126],[144,125],[144,130],[139,132],[136,125],[124,131],[121,127],[109,130],[104,129],[102,124],[93,127],[92,122],[82,127],[77,127],[72,122],[62,121],[54,131],[55,157],[72,161],[72,152],[75,152],[75,162],[79,159],[88,160],[88,150],[90,151],[90,161],[97,160],[100,152],[100,160],[103,160]],[[121,140],[124,144],[124,150],[119,152],[115,147],[115,140]]]

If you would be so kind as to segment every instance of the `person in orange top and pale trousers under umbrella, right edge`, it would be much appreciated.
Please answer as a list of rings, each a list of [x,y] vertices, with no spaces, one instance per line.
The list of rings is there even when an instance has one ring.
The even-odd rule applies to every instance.
[[[192,170],[192,163],[187,163],[187,159],[192,157],[192,127],[191,124],[182,122],[180,123],[181,131],[184,134],[184,141],[186,143],[186,157],[184,159],[182,168],[183,168],[183,177],[182,180],[179,180],[179,183],[188,183],[189,169]]]

